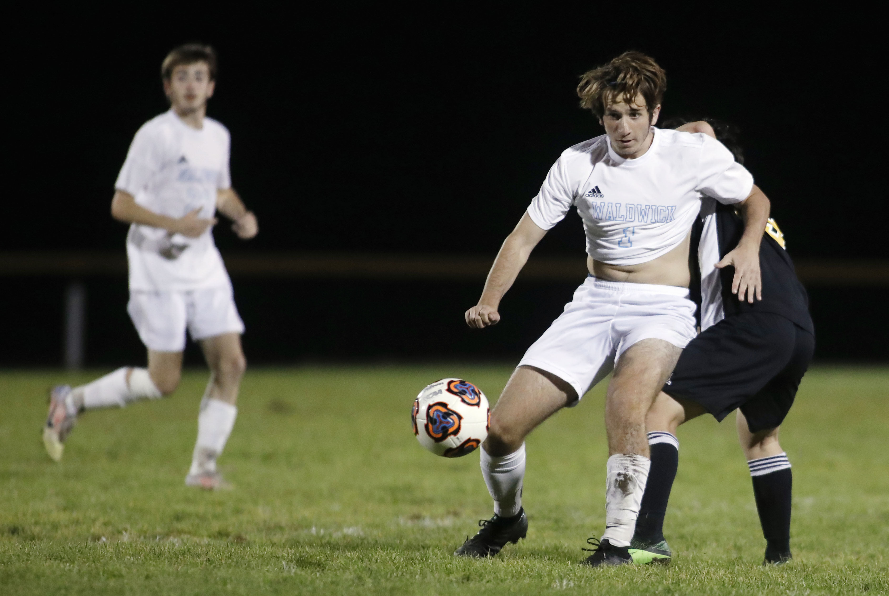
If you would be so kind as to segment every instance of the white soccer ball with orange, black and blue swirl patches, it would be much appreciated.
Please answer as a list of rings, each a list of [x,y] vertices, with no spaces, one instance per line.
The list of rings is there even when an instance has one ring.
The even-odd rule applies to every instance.
[[[462,457],[475,451],[488,436],[488,399],[469,381],[442,379],[428,385],[413,400],[413,434],[435,455]]]

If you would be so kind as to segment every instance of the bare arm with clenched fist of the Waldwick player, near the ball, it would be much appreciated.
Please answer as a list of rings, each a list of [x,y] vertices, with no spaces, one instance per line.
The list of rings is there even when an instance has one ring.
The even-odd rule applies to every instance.
[[[500,313],[497,309],[500,307],[503,294],[506,294],[516,281],[518,272],[525,267],[534,246],[537,246],[546,233],[547,230],[541,229],[534,223],[528,213],[522,216],[516,229],[506,237],[497,258],[494,259],[478,304],[466,311],[467,325],[482,329],[500,322]]]

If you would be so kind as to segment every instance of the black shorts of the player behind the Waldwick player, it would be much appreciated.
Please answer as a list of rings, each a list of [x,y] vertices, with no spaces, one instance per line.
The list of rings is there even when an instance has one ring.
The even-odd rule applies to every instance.
[[[685,347],[663,391],[707,408],[722,421],[740,407],[751,432],[783,422],[812,361],[813,334],[788,318],[742,312]]]

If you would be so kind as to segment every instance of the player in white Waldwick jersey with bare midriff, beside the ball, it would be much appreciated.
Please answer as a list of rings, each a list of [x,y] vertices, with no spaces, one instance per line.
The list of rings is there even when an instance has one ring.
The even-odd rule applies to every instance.
[[[734,266],[736,294],[750,302],[761,294],[762,234],[756,231],[765,227],[769,201],[719,141],[654,127],[665,86],[661,67],[638,52],[581,77],[581,106],[592,110],[605,134],[559,157],[503,243],[478,304],[466,313],[471,327],[499,322],[501,298],[533,247],[571,205],[577,207],[589,277],[527,350],[493,408],[481,467],[494,516],[455,554],[490,556],[525,537],[525,436],[613,371],[605,402],[606,528],[583,562],[631,562],[650,465],[645,414],[695,335],[688,252],[701,197],[741,209],[747,231],[721,265]]]

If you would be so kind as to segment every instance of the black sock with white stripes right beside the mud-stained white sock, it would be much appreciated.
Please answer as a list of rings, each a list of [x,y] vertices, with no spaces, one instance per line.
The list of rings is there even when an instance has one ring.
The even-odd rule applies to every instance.
[[[679,467],[679,440],[669,432],[648,433],[652,465],[636,520],[633,542],[657,544],[664,539],[664,515]]]

